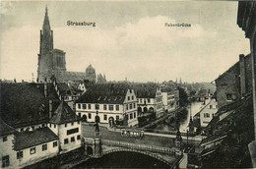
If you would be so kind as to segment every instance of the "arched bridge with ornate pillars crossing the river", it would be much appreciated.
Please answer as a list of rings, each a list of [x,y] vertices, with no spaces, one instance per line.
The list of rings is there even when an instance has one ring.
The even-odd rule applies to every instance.
[[[143,139],[123,138],[120,131],[109,131],[99,127],[100,137],[95,137],[95,127],[83,123],[82,134],[85,144],[85,153],[91,157],[118,151],[132,151],[152,156],[173,168],[178,165],[183,157],[182,145],[187,137],[181,137],[183,142],[177,143],[174,135],[145,133]],[[185,141],[184,141],[185,140]],[[189,138],[190,144],[198,144],[200,138]]]

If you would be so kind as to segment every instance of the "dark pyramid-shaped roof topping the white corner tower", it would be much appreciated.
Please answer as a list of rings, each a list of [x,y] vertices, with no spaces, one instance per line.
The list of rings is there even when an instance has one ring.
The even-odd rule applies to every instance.
[[[76,113],[67,105],[67,103],[61,101],[49,122],[53,124],[64,124],[78,121],[80,119],[81,118],[76,115]]]

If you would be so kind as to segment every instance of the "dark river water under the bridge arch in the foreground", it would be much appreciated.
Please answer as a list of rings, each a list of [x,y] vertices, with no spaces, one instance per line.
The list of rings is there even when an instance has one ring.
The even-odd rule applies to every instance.
[[[169,168],[160,160],[137,152],[114,152],[91,158],[74,169],[85,168]]]

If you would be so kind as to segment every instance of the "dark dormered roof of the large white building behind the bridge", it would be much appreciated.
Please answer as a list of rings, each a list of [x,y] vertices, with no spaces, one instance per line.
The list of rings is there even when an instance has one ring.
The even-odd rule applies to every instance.
[[[76,102],[122,104],[129,88],[128,84],[95,84]]]

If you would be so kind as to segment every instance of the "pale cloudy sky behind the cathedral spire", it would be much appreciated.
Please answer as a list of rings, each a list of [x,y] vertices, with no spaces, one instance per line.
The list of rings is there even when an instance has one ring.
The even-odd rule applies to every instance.
[[[92,64],[107,81],[213,82],[250,51],[236,25],[234,1],[2,2],[2,80],[37,77],[46,5],[54,48],[66,52],[67,71],[85,72]],[[96,27],[67,26],[68,21]]]

